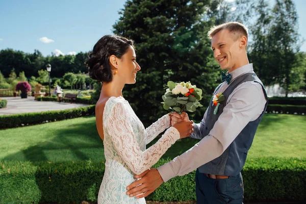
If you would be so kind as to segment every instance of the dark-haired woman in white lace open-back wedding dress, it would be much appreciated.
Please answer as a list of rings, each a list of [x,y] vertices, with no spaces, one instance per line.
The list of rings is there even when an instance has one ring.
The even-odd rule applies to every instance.
[[[125,84],[135,84],[141,69],[136,62],[133,41],[106,35],[94,45],[86,61],[92,79],[103,82],[95,108],[96,126],[105,149],[105,173],[98,194],[98,204],[145,203],[145,199],[126,195],[134,174],[154,165],[177,139],[190,136],[192,121],[171,126],[164,115],[147,129],[122,96]],[[167,131],[151,147],[145,145]]]

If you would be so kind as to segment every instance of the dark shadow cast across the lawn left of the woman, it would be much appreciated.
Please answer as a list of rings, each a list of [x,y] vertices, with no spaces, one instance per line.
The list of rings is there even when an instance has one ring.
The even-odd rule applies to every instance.
[[[3,160],[27,160],[31,162],[48,160],[53,162],[89,159],[93,161],[104,160],[103,141],[98,136],[95,122],[88,121],[67,125],[62,129],[53,131],[52,134],[57,135],[57,137],[35,146],[30,146],[27,149],[3,158]],[[101,157],[92,158],[92,152],[97,150],[101,151]]]

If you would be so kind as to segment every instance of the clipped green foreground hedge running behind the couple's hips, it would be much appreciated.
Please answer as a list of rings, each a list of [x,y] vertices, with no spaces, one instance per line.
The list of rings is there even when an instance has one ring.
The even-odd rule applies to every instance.
[[[168,161],[168,160],[167,160]],[[167,162],[160,160],[156,166]],[[103,162],[0,161],[0,203],[96,201]],[[245,201],[306,200],[306,159],[247,160],[243,171]],[[195,171],[162,184],[147,200],[195,200]]]

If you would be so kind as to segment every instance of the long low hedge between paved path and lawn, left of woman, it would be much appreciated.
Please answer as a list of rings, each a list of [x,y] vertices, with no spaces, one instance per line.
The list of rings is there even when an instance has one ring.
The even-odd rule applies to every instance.
[[[46,111],[38,113],[22,113],[14,115],[0,116],[0,129],[7,129],[10,127],[23,126],[25,124],[39,124],[43,122],[65,120],[70,118],[77,118],[86,115],[94,115],[95,106],[87,106],[75,109],[67,109],[62,111]]]

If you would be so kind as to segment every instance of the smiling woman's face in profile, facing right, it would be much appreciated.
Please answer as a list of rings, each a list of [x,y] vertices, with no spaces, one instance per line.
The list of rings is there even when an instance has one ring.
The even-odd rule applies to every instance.
[[[141,68],[136,62],[136,54],[133,46],[130,46],[127,52],[119,59],[117,69],[118,77],[120,77],[125,84],[136,83],[136,74]]]

